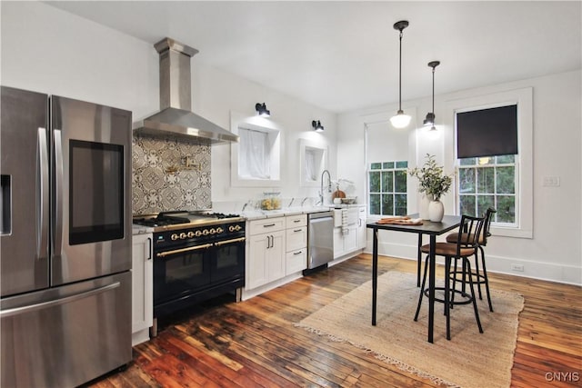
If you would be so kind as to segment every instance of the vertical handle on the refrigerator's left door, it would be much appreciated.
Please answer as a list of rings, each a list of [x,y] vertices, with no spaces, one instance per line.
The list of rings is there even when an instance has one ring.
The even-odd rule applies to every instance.
[[[36,234],[36,258],[45,259],[48,255],[48,145],[46,141],[46,128],[38,128],[37,136],[37,168],[40,179],[40,194],[38,197],[39,211]]]

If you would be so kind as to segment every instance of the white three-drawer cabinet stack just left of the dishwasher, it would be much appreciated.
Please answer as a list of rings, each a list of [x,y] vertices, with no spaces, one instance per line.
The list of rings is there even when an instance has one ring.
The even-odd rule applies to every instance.
[[[295,274],[307,267],[307,215],[286,216],[286,272]]]

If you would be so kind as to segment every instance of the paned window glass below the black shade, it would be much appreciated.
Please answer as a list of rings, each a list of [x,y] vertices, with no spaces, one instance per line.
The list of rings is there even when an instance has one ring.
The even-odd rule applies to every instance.
[[[459,214],[485,214],[497,209],[494,224],[517,225],[517,155],[458,160]]]

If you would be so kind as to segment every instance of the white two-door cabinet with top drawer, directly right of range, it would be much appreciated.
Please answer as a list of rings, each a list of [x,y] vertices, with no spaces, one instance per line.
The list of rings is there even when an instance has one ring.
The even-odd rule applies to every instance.
[[[286,220],[266,218],[249,223],[246,289],[254,289],[285,276]]]

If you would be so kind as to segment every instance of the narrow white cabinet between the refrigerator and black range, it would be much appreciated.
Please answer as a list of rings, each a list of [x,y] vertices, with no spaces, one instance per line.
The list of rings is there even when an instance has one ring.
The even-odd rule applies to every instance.
[[[132,238],[132,344],[149,340],[154,320],[154,261],[152,234]]]

